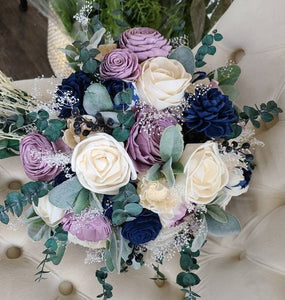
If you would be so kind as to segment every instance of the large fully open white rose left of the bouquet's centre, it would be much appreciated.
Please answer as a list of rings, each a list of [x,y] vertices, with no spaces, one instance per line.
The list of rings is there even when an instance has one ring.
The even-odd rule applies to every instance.
[[[116,195],[136,170],[123,143],[106,133],[95,133],[74,148],[72,170],[86,189],[100,194]]]

